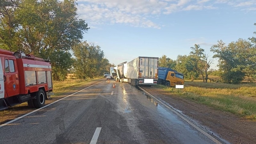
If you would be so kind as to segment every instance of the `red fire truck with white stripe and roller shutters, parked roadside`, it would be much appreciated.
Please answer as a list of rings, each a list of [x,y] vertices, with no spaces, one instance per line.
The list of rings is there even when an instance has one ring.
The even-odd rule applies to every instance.
[[[28,102],[31,108],[40,108],[51,95],[49,59],[0,49],[0,110],[23,102]]]

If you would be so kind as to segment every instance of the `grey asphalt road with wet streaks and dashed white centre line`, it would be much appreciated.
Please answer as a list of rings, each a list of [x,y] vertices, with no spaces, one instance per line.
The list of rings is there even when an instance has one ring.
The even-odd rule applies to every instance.
[[[0,127],[0,143],[214,143],[143,91],[102,80]]]

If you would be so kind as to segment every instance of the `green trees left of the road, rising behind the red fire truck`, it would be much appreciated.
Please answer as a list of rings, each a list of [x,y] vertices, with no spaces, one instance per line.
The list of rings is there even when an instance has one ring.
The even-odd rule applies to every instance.
[[[83,40],[90,27],[78,18],[75,0],[0,2],[0,46],[50,58],[54,80],[73,71],[78,78],[101,76],[111,64],[100,46]]]

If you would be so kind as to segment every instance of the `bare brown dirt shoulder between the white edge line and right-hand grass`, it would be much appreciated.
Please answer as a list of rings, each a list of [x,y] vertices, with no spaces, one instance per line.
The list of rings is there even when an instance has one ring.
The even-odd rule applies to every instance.
[[[256,122],[185,98],[172,96],[159,88],[143,87],[143,89],[231,143],[256,143]]]

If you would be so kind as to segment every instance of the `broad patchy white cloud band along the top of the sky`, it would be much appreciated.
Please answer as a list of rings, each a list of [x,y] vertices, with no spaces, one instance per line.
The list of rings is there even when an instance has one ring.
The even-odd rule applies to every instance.
[[[217,9],[220,5],[244,7],[252,0],[78,0],[78,14],[89,25],[125,24],[135,27],[161,28],[156,20],[159,16],[179,11],[200,11]],[[243,9],[242,9],[243,10]],[[253,11],[254,7],[250,7]]]

